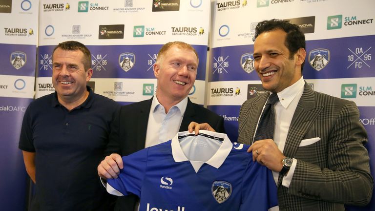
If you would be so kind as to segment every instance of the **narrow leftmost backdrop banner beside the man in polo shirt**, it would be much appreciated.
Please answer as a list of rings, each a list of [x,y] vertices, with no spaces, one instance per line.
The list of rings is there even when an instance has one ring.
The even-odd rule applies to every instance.
[[[22,211],[26,171],[18,149],[34,97],[38,0],[0,0],[0,210]]]

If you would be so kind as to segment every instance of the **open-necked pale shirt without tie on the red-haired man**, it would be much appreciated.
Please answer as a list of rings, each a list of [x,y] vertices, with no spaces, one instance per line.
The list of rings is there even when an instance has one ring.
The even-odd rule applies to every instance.
[[[166,109],[154,95],[148,115],[145,148],[166,142],[177,134],[186,106],[187,97],[173,105],[166,114]]]

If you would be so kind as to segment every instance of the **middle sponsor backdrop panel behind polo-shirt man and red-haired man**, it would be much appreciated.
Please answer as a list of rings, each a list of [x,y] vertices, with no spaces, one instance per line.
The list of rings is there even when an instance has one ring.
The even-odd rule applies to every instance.
[[[54,91],[51,52],[56,43],[83,42],[91,51],[94,70],[89,85],[95,93],[128,104],[154,94],[153,64],[160,47],[183,41],[199,55],[189,97],[203,105],[209,8],[204,0],[41,0],[36,97]]]

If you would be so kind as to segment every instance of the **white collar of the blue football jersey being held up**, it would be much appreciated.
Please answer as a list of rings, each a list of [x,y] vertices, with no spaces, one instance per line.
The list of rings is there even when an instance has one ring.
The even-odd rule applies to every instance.
[[[218,169],[225,161],[225,159],[228,157],[230,150],[232,149],[233,145],[230,142],[227,134],[225,133],[217,133],[217,132],[211,132],[208,130],[199,130],[200,133],[205,133],[207,135],[223,138],[224,141],[222,142],[220,148],[216,151],[216,153],[206,162],[208,165],[215,167]],[[193,134],[189,133],[188,131],[184,132],[178,132],[171,141],[171,148],[172,148],[172,155],[175,162],[183,162],[183,161],[189,161],[187,157],[185,156],[181,146],[178,137],[184,136],[187,134]],[[197,170],[196,170],[197,171]]]

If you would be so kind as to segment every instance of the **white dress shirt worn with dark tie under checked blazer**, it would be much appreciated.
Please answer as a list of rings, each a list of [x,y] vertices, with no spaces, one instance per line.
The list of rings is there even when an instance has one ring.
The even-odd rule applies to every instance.
[[[279,97],[280,101],[274,105],[275,132],[273,134],[273,141],[275,142],[277,148],[279,148],[279,150],[282,152],[284,151],[289,127],[291,126],[294,111],[297,108],[299,100],[301,99],[304,86],[305,86],[305,81],[303,80],[303,77],[301,77],[296,83],[292,84],[291,86],[277,93],[277,96]],[[264,106],[263,106],[263,109],[264,109]],[[259,120],[258,120],[258,124],[259,124]],[[289,169],[288,174],[283,178],[283,182],[282,182],[283,186],[289,188],[296,165],[297,165],[297,160],[293,158],[292,167],[291,169]],[[273,174],[273,179],[277,183],[279,172],[272,171],[272,174]]]

